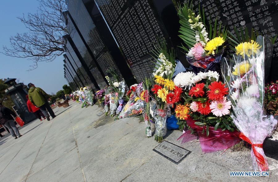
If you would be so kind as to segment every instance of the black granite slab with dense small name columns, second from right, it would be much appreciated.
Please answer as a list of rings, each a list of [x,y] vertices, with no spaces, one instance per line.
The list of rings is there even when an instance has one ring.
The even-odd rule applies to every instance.
[[[165,37],[169,45],[177,46],[175,42],[179,41],[177,12],[170,0],[95,0],[95,2],[137,81],[152,75],[154,64],[149,53],[157,44],[157,38]],[[169,17],[175,17],[169,26],[164,24],[169,22],[165,14],[162,19],[161,13],[166,12],[165,8],[169,8]],[[171,25],[175,31],[171,31]]]

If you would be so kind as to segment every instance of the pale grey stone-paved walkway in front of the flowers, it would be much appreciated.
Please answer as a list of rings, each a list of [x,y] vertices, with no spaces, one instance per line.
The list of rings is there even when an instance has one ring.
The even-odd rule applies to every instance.
[[[145,137],[137,118],[118,121],[97,116],[98,106],[55,108],[57,117],[20,128],[23,136],[0,139],[0,182],[107,181],[277,181],[278,162],[268,158],[270,177],[230,177],[229,171],[252,171],[250,152],[227,150],[203,154],[200,144],[178,165],[152,151],[154,137]],[[180,131],[165,139],[177,145]]]

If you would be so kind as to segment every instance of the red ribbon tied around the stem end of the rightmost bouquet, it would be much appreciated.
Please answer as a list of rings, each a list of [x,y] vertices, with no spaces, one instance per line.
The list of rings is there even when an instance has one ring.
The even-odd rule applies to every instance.
[[[250,139],[248,139],[243,133],[239,134],[239,138],[241,138],[242,140],[246,141],[247,143],[251,144],[251,147],[253,149],[254,155],[256,157],[256,161],[259,165],[259,167],[262,169],[262,171],[268,171],[268,166],[266,161],[263,158],[263,155],[261,155],[256,149],[255,147],[260,147],[263,148],[263,144],[258,144],[258,143],[252,143]]]

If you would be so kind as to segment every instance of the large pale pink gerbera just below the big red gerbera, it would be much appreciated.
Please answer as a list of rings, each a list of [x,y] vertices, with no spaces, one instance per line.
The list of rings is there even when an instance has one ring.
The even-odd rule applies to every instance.
[[[212,101],[209,108],[215,116],[221,117],[223,115],[230,114],[229,109],[231,109],[231,105],[231,101],[227,101],[227,98],[223,97],[223,100]]]

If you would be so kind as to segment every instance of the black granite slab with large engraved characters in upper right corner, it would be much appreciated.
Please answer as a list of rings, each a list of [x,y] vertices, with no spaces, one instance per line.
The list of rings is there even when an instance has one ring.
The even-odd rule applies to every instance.
[[[181,0],[176,2],[192,2],[191,0]],[[278,34],[278,1],[273,0],[196,0],[192,2],[195,13],[200,8],[204,8],[204,13],[208,18],[211,16],[212,22],[217,19],[222,26],[226,25],[234,33],[234,26],[251,27],[267,36]],[[219,28],[219,27],[218,27]],[[240,33],[240,32],[239,32]],[[245,33],[245,32],[243,32]],[[274,44],[273,59],[269,80],[278,79],[278,39]]]

